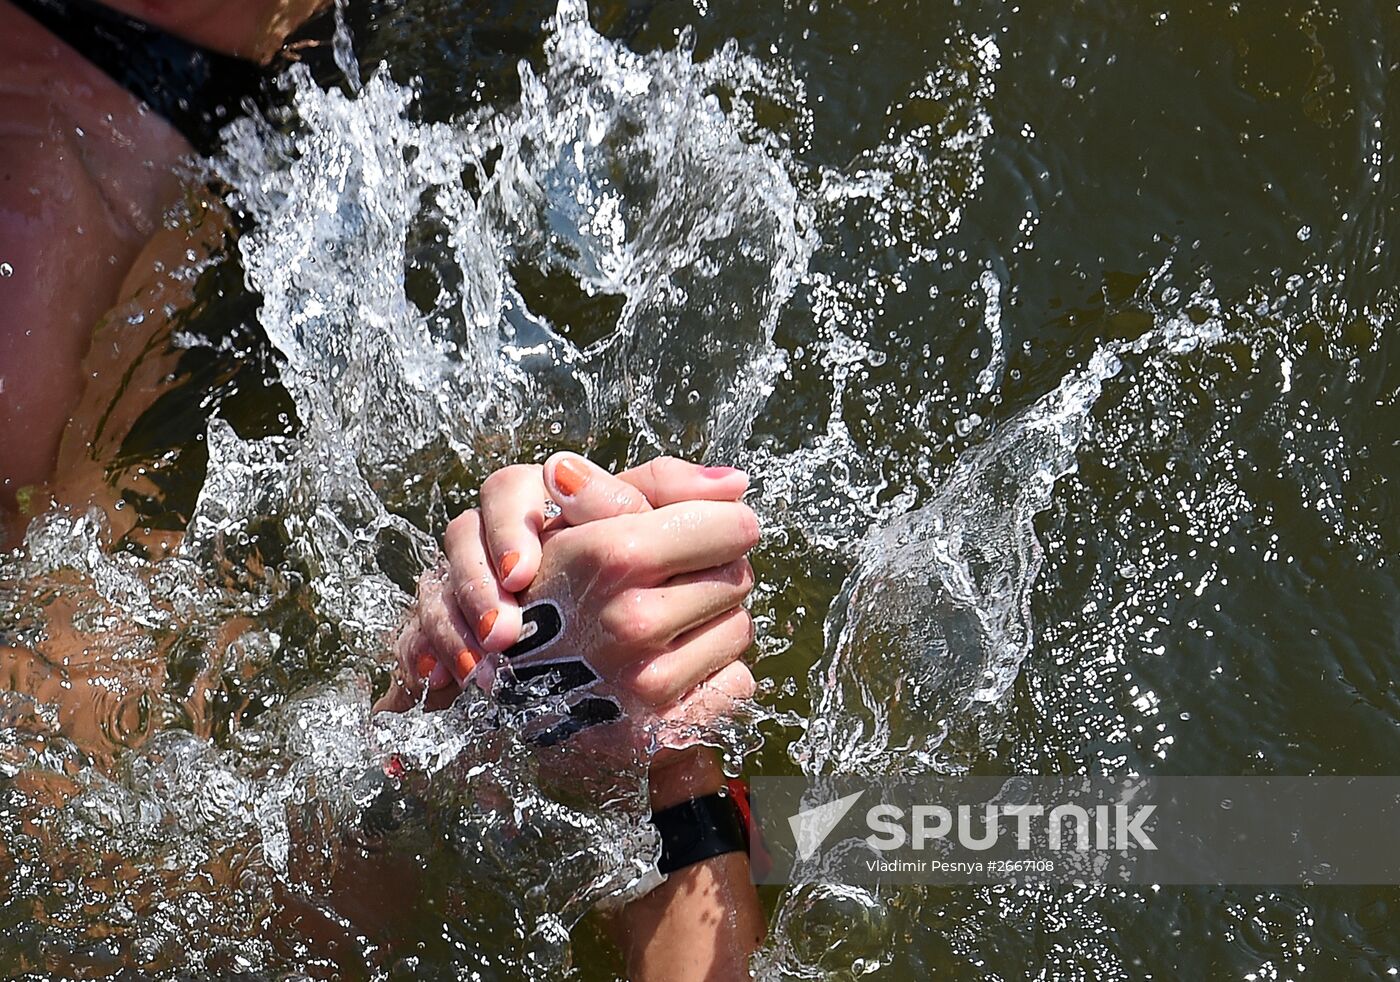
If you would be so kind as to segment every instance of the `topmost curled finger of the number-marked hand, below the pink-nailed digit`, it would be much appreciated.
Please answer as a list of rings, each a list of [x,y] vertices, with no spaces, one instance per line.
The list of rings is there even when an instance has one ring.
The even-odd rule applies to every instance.
[[[741,559],[759,542],[759,518],[738,502],[679,502],[564,530],[564,537],[599,580],[661,586]]]

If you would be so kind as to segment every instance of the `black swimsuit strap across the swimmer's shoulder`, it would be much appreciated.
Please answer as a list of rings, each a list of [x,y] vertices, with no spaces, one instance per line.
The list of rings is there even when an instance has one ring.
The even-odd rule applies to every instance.
[[[202,154],[246,98],[260,101],[256,64],[200,48],[94,0],[10,0],[116,84],[164,116]]]

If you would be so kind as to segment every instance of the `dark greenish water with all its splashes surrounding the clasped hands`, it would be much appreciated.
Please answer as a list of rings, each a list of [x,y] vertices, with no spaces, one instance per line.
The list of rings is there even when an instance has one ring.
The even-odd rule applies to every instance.
[[[616,976],[640,789],[367,709],[447,518],[554,447],[755,475],[749,773],[1394,770],[1393,7],[349,22],[363,87],[293,73],[210,165],[248,230],[119,461],[181,553],[53,516],[0,567],[113,693],[98,749],[7,703],[11,974]],[[391,751],[427,805],[367,839]],[[375,866],[399,918],[333,888]],[[1400,971],[1382,887],[764,901],[763,978]]]

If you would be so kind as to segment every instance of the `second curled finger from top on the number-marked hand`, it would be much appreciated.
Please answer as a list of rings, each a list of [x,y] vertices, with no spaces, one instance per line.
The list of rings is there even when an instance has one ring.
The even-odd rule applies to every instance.
[[[598,626],[620,649],[657,651],[734,609],[752,588],[753,569],[746,559],[736,559],[685,573],[659,587],[623,591],[598,612]]]

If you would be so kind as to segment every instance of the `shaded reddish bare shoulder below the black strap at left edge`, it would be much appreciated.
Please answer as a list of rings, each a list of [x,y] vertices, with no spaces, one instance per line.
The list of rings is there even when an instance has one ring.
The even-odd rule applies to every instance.
[[[188,153],[0,0],[0,511],[50,478],[92,328],[176,200]]]

